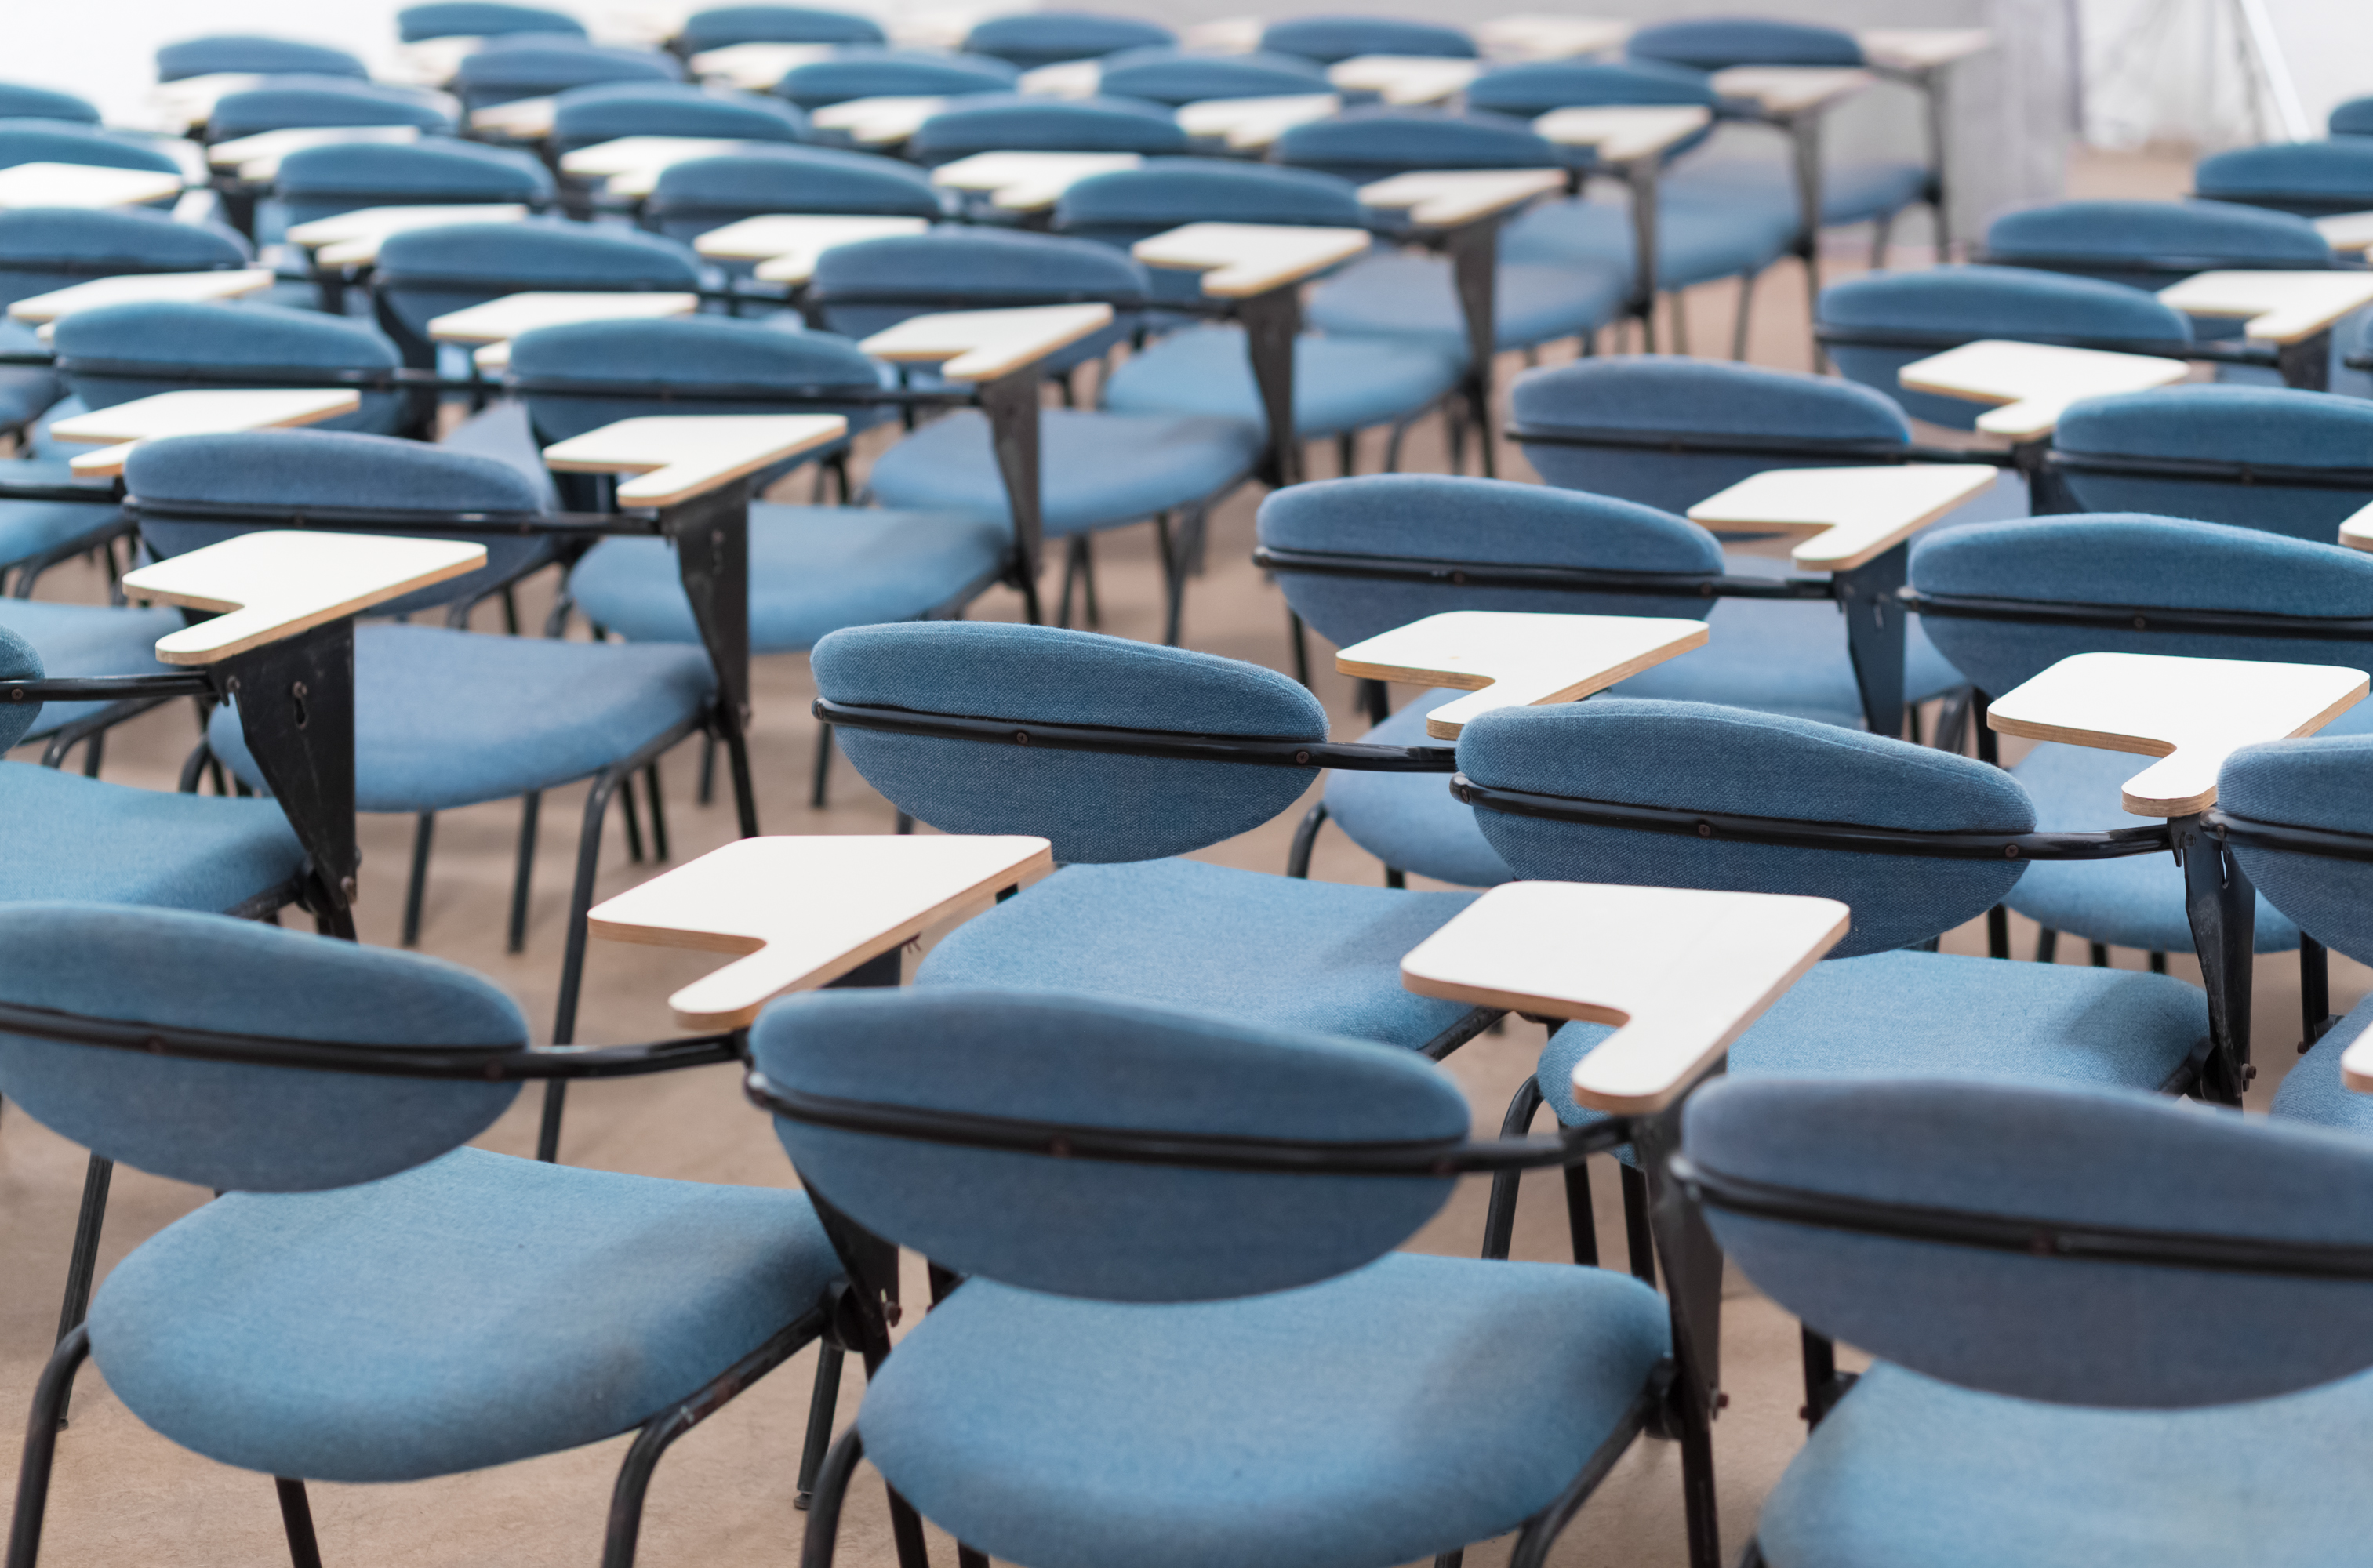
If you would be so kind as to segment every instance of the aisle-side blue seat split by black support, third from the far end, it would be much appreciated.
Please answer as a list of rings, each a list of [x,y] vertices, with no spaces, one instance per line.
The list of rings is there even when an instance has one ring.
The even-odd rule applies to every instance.
[[[1623,308],[1630,280],[1616,266],[1502,266],[1493,294],[1500,349],[1531,349],[1597,332]],[[1343,337],[1395,337],[1467,365],[1467,315],[1450,263],[1388,251],[1343,268],[1310,294],[1308,320]]]

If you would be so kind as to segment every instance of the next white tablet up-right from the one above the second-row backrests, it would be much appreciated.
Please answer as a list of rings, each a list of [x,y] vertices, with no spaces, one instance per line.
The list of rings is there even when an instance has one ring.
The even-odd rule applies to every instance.
[[[1709,529],[1806,534],[1789,550],[1803,572],[1851,572],[1896,548],[1953,508],[1993,489],[1986,463],[1887,467],[1775,467],[1749,474],[1690,508]]]

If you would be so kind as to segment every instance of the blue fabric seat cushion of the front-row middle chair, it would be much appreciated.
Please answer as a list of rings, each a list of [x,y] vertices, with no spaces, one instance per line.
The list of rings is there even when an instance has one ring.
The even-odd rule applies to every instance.
[[[1604,1269],[1393,1253],[1191,1305],[959,1288],[859,1430],[933,1523],[1032,1568],[1376,1568],[1550,1504],[1666,1355]]]

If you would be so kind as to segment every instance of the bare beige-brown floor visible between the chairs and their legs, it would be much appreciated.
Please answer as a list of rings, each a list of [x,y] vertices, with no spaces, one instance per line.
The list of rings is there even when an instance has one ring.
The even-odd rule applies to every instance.
[[[2181,195],[2186,164],[2171,159],[2093,157],[2072,173],[2072,195]],[[1860,266],[1858,247],[1841,247],[1832,275]],[[1730,342],[1737,292],[1709,287],[1687,301],[1699,349]],[[1758,289],[1754,351],[1763,365],[1808,368],[1806,304],[1794,266],[1775,268]],[[1514,375],[1509,358],[1502,380]],[[1381,446],[1362,455],[1374,467]],[[1523,458],[1500,451],[1500,472],[1531,477]],[[1334,472],[1331,453],[1315,453],[1317,474]],[[1443,470],[1438,427],[1412,436],[1407,467]],[[797,482],[797,484],[804,484]],[[793,496],[795,498],[795,496]],[[1289,669],[1286,614],[1272,586],[1251,567],[1253,508],[1258,493],[1241,493],[1213,520],[1208,574],[1194,581],[1186,603],[1186,643],[1208,652]],[[1118,636],[1160,636],[1158,574],[1149,529],[1099,538],[1103,629]],[[1054,574],[1049,572],[1049,586]],[[45,579],[45,598],[95,600],[95,574],[59,572]],[[551,586],[539,584],[529,610],[541,622]],[[1016,619],[1018,598],[999,591],[975,610],[982,619]],[[1317,650],[1324,659],[1324,648]],[[1357,733],[1350,681],[1317,674],[1317,693],[1336,716],[1336,733]],[[814,724],[807,705],[814,688],[800,657],[762,659],[757,667],[757,733],[752,740],[759,780],[759,816],[769,833],[888,833],[890,807],[840,764],[831,807],[807,804],[814,757]],[[1402,700],[1407,693],[1395,693]],[[171,788],[192,742],[185,709],[149,714],[116,735],[107,778]],[[2015,752],[2012,752],[2015,754]],[[664,764],[669,828],[676,861],[731,837],[731,809],[695,807],[695,747],[679,747]],[[422,949],[467,963],[513,992],[539,1027],[548,1027],[560,965],[565,875],[577,833],[581,790],[560,790],[546,802],[534,918],[527,951],[503,954],[503,911],[517,833],[517,807],[496,804],[453,811],[437,823],[437,854],[427,894]],[[1198,859],[1279,871],[1300,807],[1265,828],[1217,844]],[[645,875],[648,863],[629,863],[617,814],[610,818],[600,897]],[[392,944],[399,930],[411,823],[363,821],[363,939]],[[1376,882],[1379,866],[1338,833],[1319,840],[1312,875],[1343,882]],[[2015,923],[2017,951],[2031,951],[2034,930]],[[1946,951],[1984,951],[1984,930],[1962,928],[1946,937]],[[2081,944],[2062,944],[2065,958],[2083,961]],[[710,968],[695,954],[648,946],[593,944],[579,1037],[586,1041],[657,1039],[669,1034],[662,999],[676,984]],[[2124,968],[2140,968],[2140,954],[2117,954]],[[2188,958],[2174,970],[2197,980]],[[2366,973],[2335,958],[2335,1008],[2352,1006],[2366,989]],[[2266,958],[2257,977],[2257,1039],[2261,1077],[2252,1103],[2271,1098],[2297,1039],[2297,975],[2288,956]],[[1450,1058],[1450,1072],[1476,1108],[1478,1132],[1497,1129],[1514,1086],[1533,1070],[1542,1030],[1509,1020]],[[534,1143],[534,1096],[505,1115],[479,1143],[505,1153],[529,1153]],[[591,1165],[691,1181],[790,1186],[790,1167],[757,1110],[740,1098],[738,1075],[726,1067],[679,1072],[657,1079],[586,1084],[572,1091],[562,1158]],[[1621,1215],[1614,1169],[1592,1162],[1599,1200],[1599,1234],[1607,1257],[1621,1264]],[[59,1281],[74,1236],[83,1153],[17,1110],[0,1129],[0,1468],[14,1473],[17,1416],[31,1397],[33,1378],[50,1352],[57,1324]],[[204,1191],[121,1169],[107,1224],[102,1271],[147,1236],[206,1200]],[[1414,1250],[1471,1255],[1481,1234],[1485,1188],[1469,1181],[1443,1215],[1412,1241]],[[1516,1257],[1566,1260],[1564,1205],[1554,1181],[1535,1179],[1516,1222]],[[918,1267],[909,1300],[925,1300]],[[911,1321],[911,1319],[909,1319]],[[1725,1307],[1725,1388],[1730,1409],[1716,1426],[1723,1540],[1735,1551],[1747,1540],[1763,1494],[1773,1487],[1803,1428],[1794,1321],[1732,1279]],[[683,1438],[660,1466],[643,1528],[643,1561],[783,1563],[797,1551],[804,1516],[793,1511],[793,1473],[814,1352],[797,1357],[710,1423]],[[854,1409],[861,1378],[850,1373],[842,1416]],[[316,1485],[313,1511],[325,1561],[401,1566],[505,1563],[508,1568],[560,1568],[598,1561],[610,1480],[626,1440],[600,1442],[570,1454],[399,1487]],[[1642,1440],[1580,1513],[1559,1544],[1561,1568],[1623,1563],[1661,1568],[1682,1563],[1678,1511],[1678,1457],[1671,1445]],[[85,1371],[74,1407],[74,1426],[59,1445],[50,1499],[45,1561],[59,1568],[97,1563],[176,1563],[187,1568],[285,1561],[273,1487],[266,1478],[230,1471],[173,1447],[145,1430]],[[952,1547],[935,1537],[935,1556],[952,1561]],[[1483,1547],[1471,1563],[1497,1566],[1507,1542]],[[888,1516],[880,1487],[861,1478],[842,1525],[842,1561],[873,1568],[890,1563]]]

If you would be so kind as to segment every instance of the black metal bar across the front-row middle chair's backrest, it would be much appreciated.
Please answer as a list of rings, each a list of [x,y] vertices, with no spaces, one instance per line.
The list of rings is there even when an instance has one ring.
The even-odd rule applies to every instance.
[[[956,1148],[997,1148],[1051,1160],[1101,1160],[1108,1165],[1179,1165],[1186,1169],[1270,1172],[1281,1177],[1467,1177],[1504,1169],[1547,1169],[1630,1141],[1630,1122],[1609,1117],[1590,1127],[1566,1127],[1547,1139],[1426,1139],[1410,1143],[1353,1143],[1319,1139],[1255,1139],[1194,1132],[1134,1132],[1127,1127],[1077,1127],[845,1101],[783,1089],[752,1070],[750,1098],[783,1120],[835,1132],[864,1132]]]

